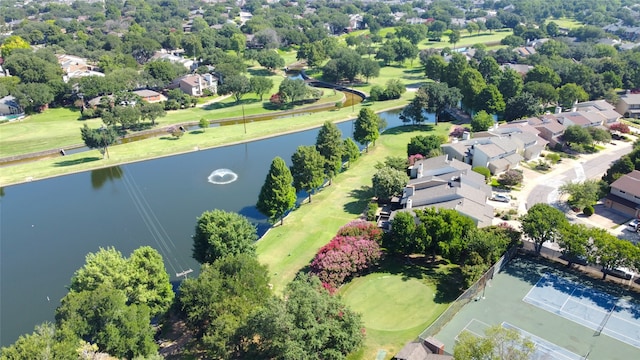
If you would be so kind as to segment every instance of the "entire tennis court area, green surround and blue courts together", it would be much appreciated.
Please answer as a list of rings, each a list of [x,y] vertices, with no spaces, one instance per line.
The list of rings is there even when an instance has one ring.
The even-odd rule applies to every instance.
[[[548,275],[540,281],[545,274]],[[637,343],[633,345],[630,340],[640,336],[640,328],[636,327],[640,321],[637,305],[640,301],[626,301],[631,294],[624,289],[584,278],[567,271],[561,264],[520,255],[496,273],[480,294],[484,296],[464,305],[440,330],[430,335],[444,343],[446,352],[453,353],[456,338],[463,330],[484,335],[488,326],[502,325],[517,328],[535,342],[536,358],[540,360],[640,358]],[[534,305],[523,301],[524,298],[546,306]],[[572,306],[575,309],[570,310]],[[598,317],[596,309],[604,315]],[[573,315],[562,316],[559,312]],[[580,317],[582,322],[569,316]],[[596,335],[606,317],[609,318],[602,334]],[[595,325],[586,326],[587,320]]]

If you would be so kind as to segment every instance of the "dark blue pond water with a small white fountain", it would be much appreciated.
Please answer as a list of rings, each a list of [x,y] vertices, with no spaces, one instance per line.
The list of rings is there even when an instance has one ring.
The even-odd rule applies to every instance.
[[[399,111],[385,112],[389,127]],[[353,121],[338,124],[352,136]],[[196,218],[206,210],[238,212],[268,228],[255,208],[274,157],[287,163],[318,129],[246,144],[9,186],[0,192],[0,345],[54,320],[85,255],[113,246],[129,256],[150,245],[173,281],[191,258]],[[303,195],[301,194],[301,197]]]

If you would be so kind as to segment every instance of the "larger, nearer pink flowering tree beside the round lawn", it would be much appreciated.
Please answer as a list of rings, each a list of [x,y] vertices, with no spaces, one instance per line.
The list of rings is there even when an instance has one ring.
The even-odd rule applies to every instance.
[[[375,264],[380,256],[380,245],[374,240],[337,235],[318,251],[311,272],[333,292],[345,279]]]

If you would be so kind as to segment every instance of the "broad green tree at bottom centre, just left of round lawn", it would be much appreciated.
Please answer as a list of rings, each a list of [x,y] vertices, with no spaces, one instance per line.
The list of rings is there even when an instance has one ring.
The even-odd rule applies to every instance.
[[[364,341],[360,315],[300,274],[284,291],[259,308],[240,331],[246,359],[342,359]]]

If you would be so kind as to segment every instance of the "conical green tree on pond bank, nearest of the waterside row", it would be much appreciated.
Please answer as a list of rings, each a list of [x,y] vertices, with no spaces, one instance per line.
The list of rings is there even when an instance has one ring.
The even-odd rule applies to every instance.
[[[279,219],[282,225],[284,215],[295,203],[296,188],[293,187],[291,171],[281,157],[276,157],[271,162],[269,173],[260,189],[256,207],[268,216],[272,223]]]

